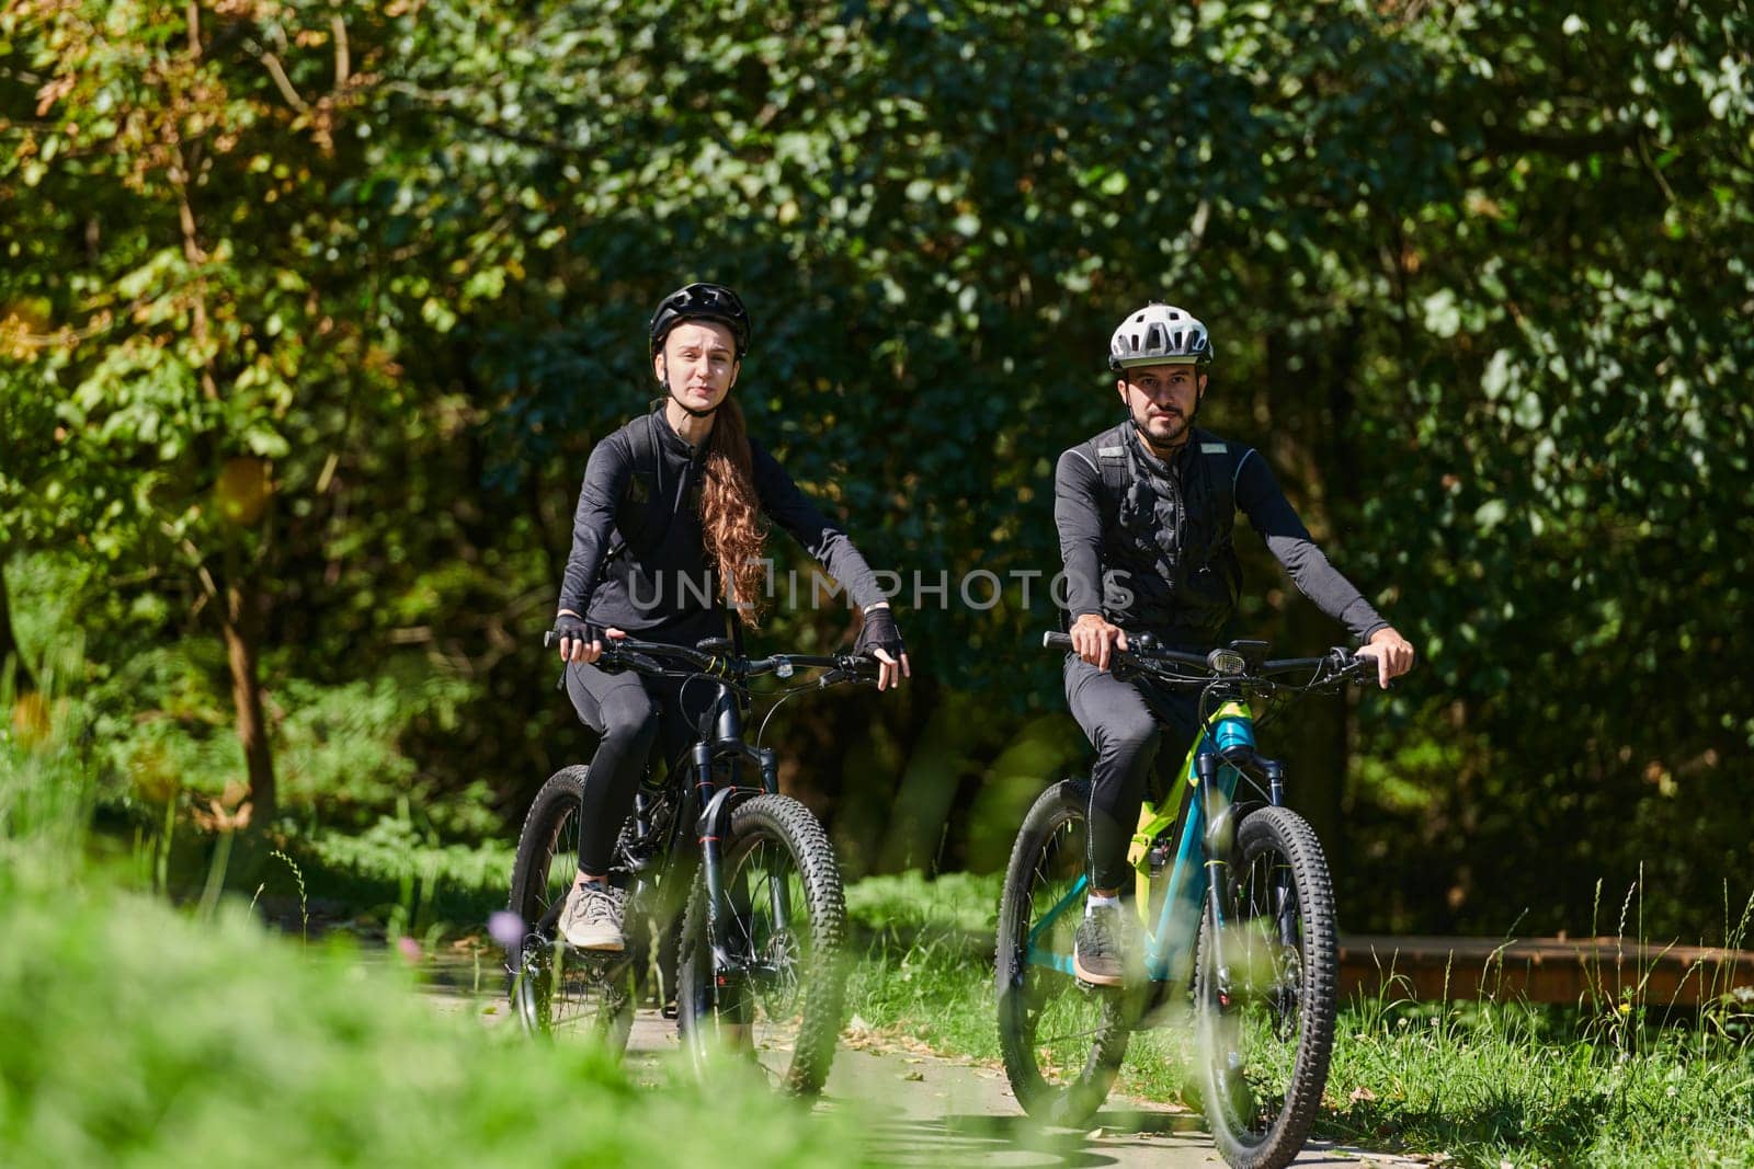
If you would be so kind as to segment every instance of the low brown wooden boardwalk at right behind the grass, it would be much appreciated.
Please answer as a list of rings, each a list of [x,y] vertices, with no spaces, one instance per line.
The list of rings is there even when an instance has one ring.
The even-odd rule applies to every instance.
[[[1340,994],[1410,999],[1700,1006],[1754,995],[1754,952],[1658,946],[1624,938],[1340,938]]]

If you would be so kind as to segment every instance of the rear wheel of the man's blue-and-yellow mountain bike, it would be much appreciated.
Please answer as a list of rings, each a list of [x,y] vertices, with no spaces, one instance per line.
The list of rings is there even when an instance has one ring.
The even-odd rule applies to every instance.
[[[1084,1123],[1102,1108],[1130,1036],[1121,995],[1072,976],[1089,797],[1087,780],[1042,792],[1017,832],[998,903],[995,988],[1005,1074],[1024,1111],[1061,1125]]]

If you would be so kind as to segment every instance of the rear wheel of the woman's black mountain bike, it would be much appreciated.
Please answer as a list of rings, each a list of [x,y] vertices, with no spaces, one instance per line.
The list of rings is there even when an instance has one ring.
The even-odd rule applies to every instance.
[[[619,1055],[633,1027],[633,948],[619,953],[572,950],[558,929],[560,908],[579,871],[584,775],[582,766],[556,771],[524,817],[507,906],[523,918],[524,936],[507,950],[505,969],[512,1015],[524,1031],[588,1036]],[[624,896],[624,889],[616,892]]]

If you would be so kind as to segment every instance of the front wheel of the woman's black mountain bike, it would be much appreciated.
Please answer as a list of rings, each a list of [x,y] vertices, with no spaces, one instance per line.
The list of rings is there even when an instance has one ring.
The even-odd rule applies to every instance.
[[[717,1052],[754,1060],[793,1095],[828,1078],[845,988],[840,866],[821,824],[788,796],[731,810],[721,878],[731,920],[726,955],[747,973],[714,969],[705,873],[696,875],[677,955],[682,1043],[703,1069]]]

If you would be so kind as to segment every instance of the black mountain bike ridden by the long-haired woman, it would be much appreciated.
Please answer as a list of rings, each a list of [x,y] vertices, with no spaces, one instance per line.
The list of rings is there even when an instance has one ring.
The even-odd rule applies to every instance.
[[[544,645],[554,638],[549,631]],[[663,780],[647,769],[616,840],[609,883],[623,901],[626,950],[572,950],[558,929],[577,873],[588,766],[563,768],[537,792],[512,864],[509,908],[526,924],[505,960],[512,1013],[531,1032],[589,1034],[619,1053],[656,967],[656,997],[674,992],[698,1069],[730,1048],[784,1090],[816,1094],[840,1034],[840,868],[810,810],[779,794],[779,755],[759,747],[766,720],[754,743],[744,741],[744,720],[754,678],[821,671],[772,694],[772,719],[795,694],[873,682],[877,662],[854,654],[744,657],[723,638],[695,647],[626,638],[607,641],[596,666],[684,678],[684,687],[710,687],[710,698],[686,761]]]

